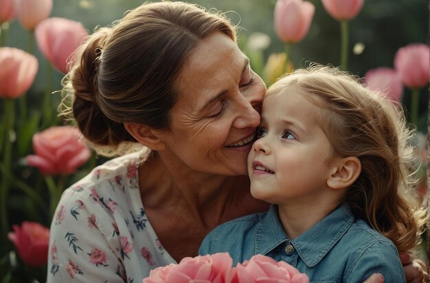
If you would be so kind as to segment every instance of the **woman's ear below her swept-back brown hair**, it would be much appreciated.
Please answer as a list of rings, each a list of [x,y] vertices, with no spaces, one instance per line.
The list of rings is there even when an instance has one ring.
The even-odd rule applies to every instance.
[[[159,137],[159,130],[138,123],[124,123],[124,127],[142,145],[156,151],[166,148],[166,144]]]

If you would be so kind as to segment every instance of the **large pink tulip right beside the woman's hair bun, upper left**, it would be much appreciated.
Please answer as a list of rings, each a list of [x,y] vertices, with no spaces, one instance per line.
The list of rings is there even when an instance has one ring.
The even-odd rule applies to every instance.
[[[67,73],[67,59],[88,36],[88,32],[77,21],[50,18],[36,27],[35,36],[43,56],[58,71]]]

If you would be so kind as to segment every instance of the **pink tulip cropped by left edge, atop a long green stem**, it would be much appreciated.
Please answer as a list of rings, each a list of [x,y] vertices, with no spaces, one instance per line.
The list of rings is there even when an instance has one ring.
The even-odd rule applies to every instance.
[[[16,98],[32,86],[36,77],[36,57],[21,49],[0,48],[0,97]]]

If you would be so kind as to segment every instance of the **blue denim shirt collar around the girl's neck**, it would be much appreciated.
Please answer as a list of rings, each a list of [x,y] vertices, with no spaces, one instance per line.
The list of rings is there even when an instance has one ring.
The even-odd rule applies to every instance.
[[[314,267],[346,233],[354,216],[342,204],[304,234],[290,241],[278,217],[278,206],[272,205],[266,216],[256,225],[256,253],[267,254],[284,242],[291,242],[308,267]]]

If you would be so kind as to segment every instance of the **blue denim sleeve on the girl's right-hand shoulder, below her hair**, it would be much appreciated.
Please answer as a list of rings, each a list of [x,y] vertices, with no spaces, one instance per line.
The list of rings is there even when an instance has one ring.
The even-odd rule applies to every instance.
[[[376,241],[357,254],[354,262],[348,265],[344,282],[362,283],[373,273],[384,275],[385,282],[406,282],[403,266],[393,243]]]

